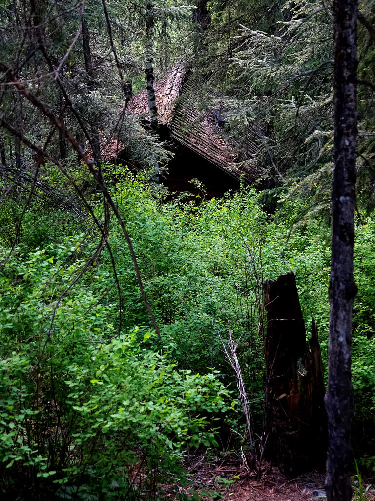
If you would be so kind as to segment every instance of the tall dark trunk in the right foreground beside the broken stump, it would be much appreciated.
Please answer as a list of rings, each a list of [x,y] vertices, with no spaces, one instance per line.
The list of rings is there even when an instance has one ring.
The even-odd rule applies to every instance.
[[[334,2],[334,169],[332,249],[329,285],[329,377],[325,396],[328,417],[326,493],[328,501],[349,501],[352,489],[350,424],[351,313],[353,280],[356,159],[356,0]]]

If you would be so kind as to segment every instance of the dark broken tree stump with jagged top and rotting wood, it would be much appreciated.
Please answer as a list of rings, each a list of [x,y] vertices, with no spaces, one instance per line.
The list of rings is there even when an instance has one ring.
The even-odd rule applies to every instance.
[[[263,284],[265,455],[288,475],[324,466],[326,414],[317,329],[306,332],[292,272]]]

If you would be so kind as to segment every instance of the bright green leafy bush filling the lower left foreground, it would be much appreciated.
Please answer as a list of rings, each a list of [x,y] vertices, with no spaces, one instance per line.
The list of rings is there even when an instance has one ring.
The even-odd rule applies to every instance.
[[[90,291],[110,280],[105,267],[61,299],[83,266],[73,258],[81,240],[15,249],[0,277],[4,495],[23,485],[19,498],[118,498],[183,479],[186,447],[217,445],[214,415],[227,409],[217,374],[179,371],[144,329],[118,334],[117,310]]]

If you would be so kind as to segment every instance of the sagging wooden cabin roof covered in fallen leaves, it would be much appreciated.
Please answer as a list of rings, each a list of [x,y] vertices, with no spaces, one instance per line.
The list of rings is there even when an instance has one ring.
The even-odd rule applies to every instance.
[[[165,77],[154,83],[154,88],[158,123],[167,127],[175,141],[236,178],[241,174],[247,180],[257,177],[255,169],[246,162],[257,151],[259,144],[255,125],[248,126],[238,142],[220,128],[217,113],[199,111],[199,83],[194,73],[186,70],[183,63],[175,64]],[[127,112],[148,117],[146,90],[131,98]],[[224,110],[221,113],[224,114]],[[123,149],[123,145],[118,144],[114,137],[100,146],[104,161]]]

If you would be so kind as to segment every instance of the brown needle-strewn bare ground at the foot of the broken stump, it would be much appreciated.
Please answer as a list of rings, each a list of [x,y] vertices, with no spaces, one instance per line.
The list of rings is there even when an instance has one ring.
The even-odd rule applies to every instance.
[[[191,475],[190,481],[204,501],[302,501],[325,499],[323,472],[312,471],[303,473],[295,478],[288,478],[277,468],[269,464],[262,467],[261,479],[257,479],[257,472],[248,466],[238,465],[238,457],[229,457],[224,460],[214,458],[207,463],[199,457],[194,458],[188,466]],[[362,479],[364,488],[368,485]],[[190,487],[191,488],[191,487]],[[190,495],[191,496],[191,490]],[[353,499],[359,499],[354,498]],[[364,498],[360,498],[361,500]],[[367,501],[375,501],[375,489],[370,487],[366,494]]]

